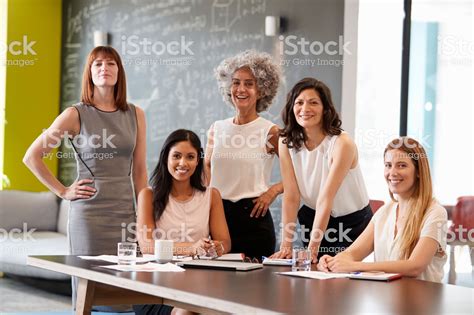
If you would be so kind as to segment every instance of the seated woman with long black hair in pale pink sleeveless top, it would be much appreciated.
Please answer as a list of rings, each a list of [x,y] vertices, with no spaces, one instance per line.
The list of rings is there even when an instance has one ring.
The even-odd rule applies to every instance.
[[[150,178],[152,187],[138,195],[137,231],[143,253],[154,253],[155,239],[173,240],[175,255],[194,256],[214,248],[221,256],[230,250],[219,191],[203,183],[202,155],[201,141],[190,130],[176,130],[165,140]],[[135,305],[134,310],[143,315],[171,314],[173,308]]]

